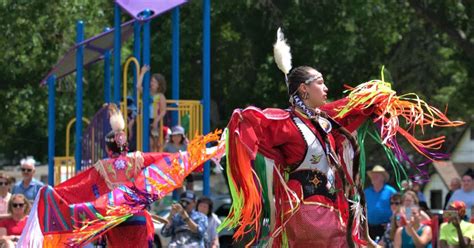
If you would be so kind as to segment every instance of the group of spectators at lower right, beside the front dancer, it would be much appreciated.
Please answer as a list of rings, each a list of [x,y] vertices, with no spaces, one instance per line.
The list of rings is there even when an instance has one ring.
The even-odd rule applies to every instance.
[[[473,170],[450,182],[442,216],[432,215],[418,181],[405,180],[397,192],[376,165],[365,189],[371,238],[382,247],[474,247]],[[441,225],[440,225],[441,223]]]

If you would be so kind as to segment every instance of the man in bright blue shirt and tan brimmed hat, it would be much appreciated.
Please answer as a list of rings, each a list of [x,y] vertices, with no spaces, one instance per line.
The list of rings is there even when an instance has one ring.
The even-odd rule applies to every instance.
[[[372,239],[377,239],[377,237],[383,237],[385,226],[390,222],[390,216],[392,216],[390,197],[397,191],[387,184],[389,175],[381,165],[374,166],[367,174],[372,183],[372,186],[364,190],[369,235]]]

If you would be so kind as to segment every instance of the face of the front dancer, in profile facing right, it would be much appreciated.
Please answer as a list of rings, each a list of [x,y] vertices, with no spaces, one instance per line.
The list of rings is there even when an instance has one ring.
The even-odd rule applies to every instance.
[[[308,84],[301,84],[300,94],[303,96],[303,101],[305,101],[309,107],[319,108],[327,101],[328,88],[324,83],[323,76],[318,71],[310,69],[308,73],[311,74],[311,77],[317,77]],[[308,99],[304,99],[306,94],[308,95]]]

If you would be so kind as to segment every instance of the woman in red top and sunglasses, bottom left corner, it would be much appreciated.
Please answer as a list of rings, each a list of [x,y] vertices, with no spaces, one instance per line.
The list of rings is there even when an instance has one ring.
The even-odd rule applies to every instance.
[[[31,209],[30,202],[22,194],[14,194],[8,202],[10,217],[0,221],[0,246],[15,247],[26,225]]]

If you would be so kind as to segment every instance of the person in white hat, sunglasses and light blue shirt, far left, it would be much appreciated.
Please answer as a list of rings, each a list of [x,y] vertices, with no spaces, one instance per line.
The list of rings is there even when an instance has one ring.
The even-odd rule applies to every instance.
[[[35,175],[35,163],[33,157],[21,160],[20,169],[23,180],[16,183],[12,190],[13,194],[23,194],[31,202],[35,200],[40,188],[43,187],[43,183],[33,177]]]

